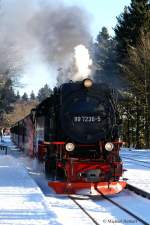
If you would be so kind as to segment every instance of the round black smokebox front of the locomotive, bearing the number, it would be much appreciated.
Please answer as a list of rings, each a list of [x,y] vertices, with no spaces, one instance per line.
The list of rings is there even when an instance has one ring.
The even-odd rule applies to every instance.
[[[63,85],[61,89],[61,126],[66,136],[78,143],[95,143],[112,132],[115,112],[108,87],[81,83]]]

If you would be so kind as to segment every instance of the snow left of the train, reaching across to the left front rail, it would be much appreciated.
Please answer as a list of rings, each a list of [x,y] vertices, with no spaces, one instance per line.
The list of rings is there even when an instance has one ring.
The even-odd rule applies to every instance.
[[[42,174],[43,168],[39,166],[35,172],[36,163],[16,151],[9,138],[3,144],[10,148],[9,155],[0,150],[0,224],[77,225],[81,221],[83,225],[93,224],[67,197],[45,197],[44,194],[52,191]],[[41,185],[44,194],[28,172]]]

